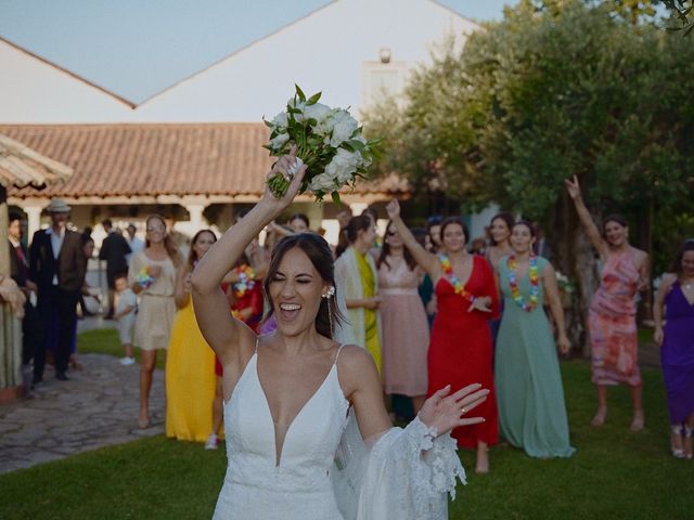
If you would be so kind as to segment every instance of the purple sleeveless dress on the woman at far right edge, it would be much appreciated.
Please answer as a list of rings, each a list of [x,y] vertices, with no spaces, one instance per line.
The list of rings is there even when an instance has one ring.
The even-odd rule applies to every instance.
[[[694,304],[686,300],[679,282],[672,285],[665,304],[660,361],[670,424],[679,425],[694,413]]]

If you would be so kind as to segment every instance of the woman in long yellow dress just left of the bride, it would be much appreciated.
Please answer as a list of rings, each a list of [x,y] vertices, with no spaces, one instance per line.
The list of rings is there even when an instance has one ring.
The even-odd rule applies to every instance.
[[[213,427],[209,405],[215,396],[215,353],[200,332],[190,297],[191,274],[217,237],[198,231],[188,261],[176,275],[178,313],[166,363],[166,437],[205,442]]]

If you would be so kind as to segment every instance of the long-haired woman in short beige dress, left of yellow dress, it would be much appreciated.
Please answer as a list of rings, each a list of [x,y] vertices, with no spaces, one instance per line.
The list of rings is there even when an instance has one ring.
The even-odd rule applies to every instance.
[[[145,248],[132,257],[128,283],[140,297],[134,323],[134,344],[140,356],[140,428],[150,426],[150,390],[156,366],[156,351],[166,349],[176,316],[174,289],[181,255],[158,214],[146,220]]]

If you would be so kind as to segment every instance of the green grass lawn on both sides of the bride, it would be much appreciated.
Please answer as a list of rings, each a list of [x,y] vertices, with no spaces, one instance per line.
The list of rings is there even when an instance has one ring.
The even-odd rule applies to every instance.
[[[101,335],[108,337],[105,332],[81,335],[80,352],[103,352],[93,344]],[[121,355],[118,349],[115,355]],[[627,389],[611,391],[606,425],[591,428],[595,403],[589,365],[567,361],[562,370],[576,455],[537,460],[497,446],[491,472],[477,476],[471,469],[468,484],[459,486],[450,518],[694,518],[694,463],[669,454],[660,374],[644,370],[646,428],[632,433]],[[461,457],[466,468],[474,468],[474,453],[462,452]],[[224,468],[223,450],[205,452],[200,444],[164,437],[144,439],[0,476],[0,518],[210,518]]]

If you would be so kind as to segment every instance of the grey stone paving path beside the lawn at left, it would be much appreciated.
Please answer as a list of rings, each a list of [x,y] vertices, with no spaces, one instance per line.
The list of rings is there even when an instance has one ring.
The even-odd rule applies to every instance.
[[[80,354],[80,370],[59,381],[47,366],[28,399],[0,406],[0,473],[164,432],[164,374],[150,398],[152,425],[138,428],[140,365]]]

